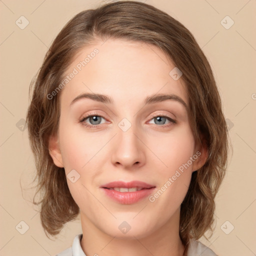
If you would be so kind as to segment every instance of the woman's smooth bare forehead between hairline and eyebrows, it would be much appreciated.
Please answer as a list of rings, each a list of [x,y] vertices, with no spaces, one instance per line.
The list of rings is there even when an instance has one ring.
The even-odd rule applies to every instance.
[[[172,61],[156,46],[108,38],[82,48],[65,75],[75,73],[61,90],[61,104],[83,92],[110,95],[116,104],[142,102],[147,95],[174,93],[188,103],[181,78],[174,80]]]

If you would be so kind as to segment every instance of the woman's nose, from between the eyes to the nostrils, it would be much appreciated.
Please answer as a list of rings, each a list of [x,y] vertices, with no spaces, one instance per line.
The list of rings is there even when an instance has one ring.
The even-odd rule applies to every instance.
[[[142,136],[135,131],[134,125],[123,131],[117,127],[112,144],[111,162],[125,169],[139,168],[145,163],[145,145]]]

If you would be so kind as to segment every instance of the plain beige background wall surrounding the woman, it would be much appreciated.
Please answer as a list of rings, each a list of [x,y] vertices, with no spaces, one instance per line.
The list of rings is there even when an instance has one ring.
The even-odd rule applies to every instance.
[[[144,1],[144,0],[143,0]],[[256,139],[255,139],[255,0],[146,0],[183,23],[208,57],[230,125],[233,156],[216,198],[216,227],[204,244],[219,256],[256,254]],[[41,227],[39,214],[29,202],[35,166],[27,128],[22,129],[28,107],[28,86],[50,43],[63,25],[98,0],[0,0],[0,255],[47,256],[69,247],[81,232],[79,219],[65,225],[55,241]],[[21,16],[29,24],[20,29]],[[234,24],[225,29],[226,16]],[[224,22],[230,24],[230,20]],[[21,190],[20,183],[23,187]],[[22,193],[23,195],[22,195]],[[24,230],[23,220],[29,229]],[[230,231],[226,234],[222,229]],[[15,226],[20,228],[17,229]],[[21,230],[21,231],[22,231]]]

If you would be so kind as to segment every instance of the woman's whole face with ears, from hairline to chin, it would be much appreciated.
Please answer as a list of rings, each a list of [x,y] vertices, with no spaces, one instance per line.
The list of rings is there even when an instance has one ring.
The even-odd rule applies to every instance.
[[[65,169],[84,226],[141,238],[178,225],[202,151],[182,76],[169,74],[174,67],[156,46],[109,38],[84,47],[66,71],[74,75],[61,90],[50,154]]]

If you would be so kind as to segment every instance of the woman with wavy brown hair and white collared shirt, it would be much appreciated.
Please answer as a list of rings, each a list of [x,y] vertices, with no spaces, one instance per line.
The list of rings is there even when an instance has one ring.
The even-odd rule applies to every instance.
[[[216,255],[197,239],[212,230],[228,133],[210,65],[180,22],[134,1],[81,11],[32,84],[45,234],[81,218],[58,255]]]

